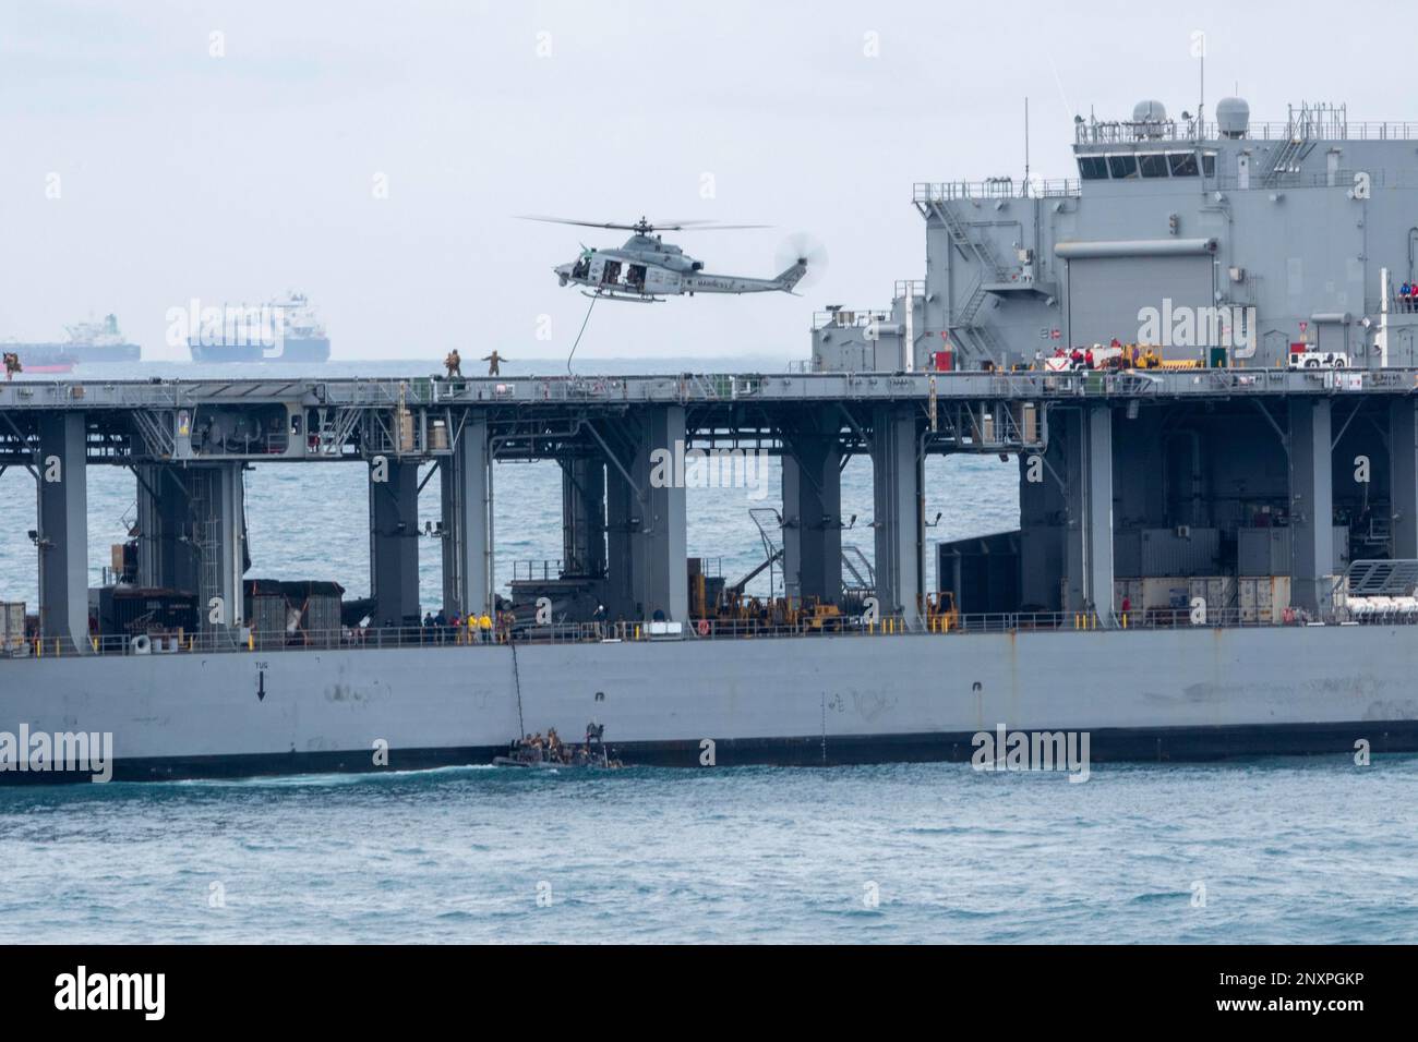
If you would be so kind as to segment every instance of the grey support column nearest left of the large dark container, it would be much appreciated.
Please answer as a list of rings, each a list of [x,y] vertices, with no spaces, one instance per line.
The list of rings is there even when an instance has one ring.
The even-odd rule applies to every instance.
[[[876,600],[883,615],[908,625],[922,617],[923,503],[919,422],[913,408],[878,408],[872,420],[876,516]]]

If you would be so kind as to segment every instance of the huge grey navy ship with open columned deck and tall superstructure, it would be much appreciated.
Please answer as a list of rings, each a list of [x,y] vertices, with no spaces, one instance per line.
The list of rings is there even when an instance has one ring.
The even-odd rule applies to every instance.
[[[0,387],[0,462],[65,475],[35,466],[0,730],[111,733],[133,778],[491,763],[550,727],[686,767],[963,760],[1000,727],[1095,760],[1418,750],[1418,123],[1228,98],[1075,133],[1064,180],[916,184],[923,276],[822,312],[790,371]],[[760,448],[769,597],[686,556],[665,469]],[[927,542],[949,454],[1018,468],[1017,527]],[[530,459],[563,559],[503,593],[495,475]],[[366,469],[369,601],[248,576],[252,462]],[[138,520],[89,590],[98,465]]]

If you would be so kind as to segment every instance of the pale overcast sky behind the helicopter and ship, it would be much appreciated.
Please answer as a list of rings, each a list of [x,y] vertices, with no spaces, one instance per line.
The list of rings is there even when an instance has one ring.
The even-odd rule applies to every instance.
[[[579,359],[804,357],[814,310],[923,274],[913,181],[1022,174],[1025,96],[1046,177],[1076,112],[1193,109],[1194,31],[1208,112],[1239,81],[1255,119],[1418,119],[1384,7],[0,0],[0,337],[113,310],[182,359],[170,308],[295,288],[337,359],[564,356],[587,301],[550,269],[623,235],[513,215],[644,213],[774,225],[676,237],[709,271],[773,275],[797,231],[831,262],[803,298],[601,303]]]

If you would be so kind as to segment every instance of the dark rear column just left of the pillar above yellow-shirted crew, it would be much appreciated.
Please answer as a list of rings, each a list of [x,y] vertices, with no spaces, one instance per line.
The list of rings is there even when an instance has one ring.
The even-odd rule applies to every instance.
[[[417,462],[403,462],[391,456],[372,461],[369,522],[373,624],[418,625]]]

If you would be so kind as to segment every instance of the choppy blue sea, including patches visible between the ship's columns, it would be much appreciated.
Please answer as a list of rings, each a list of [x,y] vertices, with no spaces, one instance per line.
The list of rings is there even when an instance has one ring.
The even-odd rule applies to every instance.
[[[988,456],[930,461],[929,540],[1012,527],[1015,475]],[[98,583],[135,489],[108,466],[88,488]],[[763,559],[749,510],[777,495],[776,466],[761,499],[692,489],[691,553],[749,571]],[[259,465],[247,498],[251,574],[367,591],[362,466]],[[869,559],[868,461],[848,465],[842,498],[845,542]],[[31,610],[34,502],[28,474],[0,475],[0,600]],[[559,557],[559,526],[554,465],[498,468],[499,584],[515,561]],[[427,604],[438,588],[430,542]],[[1411,943],[1415,795],[1418,757],[1103,766],[1085,784],[903,764],[0,787],[0,943]]]

